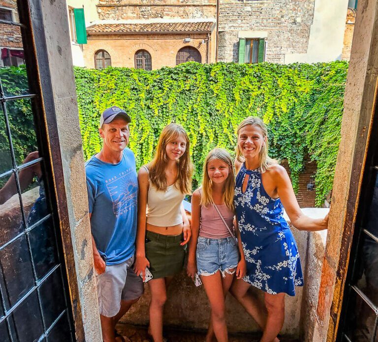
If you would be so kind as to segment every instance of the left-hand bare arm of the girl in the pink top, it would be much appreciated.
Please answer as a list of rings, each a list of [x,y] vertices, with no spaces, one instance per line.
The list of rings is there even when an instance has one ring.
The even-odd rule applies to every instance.
[[[197,239],[199,234],[199,219],[201,216],[201,195],[194,191],[191,196],[191,239],[189,241],[187,274],[193,279],[197,272],[195,254],[197,251]]]

